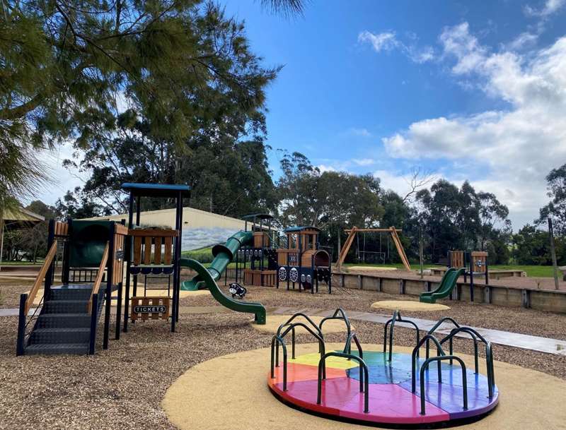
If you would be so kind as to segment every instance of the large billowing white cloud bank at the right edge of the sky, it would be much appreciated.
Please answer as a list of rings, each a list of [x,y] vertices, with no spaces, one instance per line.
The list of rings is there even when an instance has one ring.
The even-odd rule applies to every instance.
[[[493,191],[517,222],[531,222],[546,203],[545,175],[566,162],[566,37],[533,56],[492,53],[470,35],[468,24],[446,28],[444,57],[456,76],[478,81],[509,109],[417,121],[383,138],[393,157],[473,160],[455,171],[484,191]],[[483,173],[485,172],[485,173]]]

